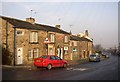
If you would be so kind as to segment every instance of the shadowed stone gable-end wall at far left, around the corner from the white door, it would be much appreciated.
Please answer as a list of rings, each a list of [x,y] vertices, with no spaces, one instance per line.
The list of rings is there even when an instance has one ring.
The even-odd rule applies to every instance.
[[[2,20],[2,18],[0,18]],[[2,20],[2,64],[13,64],[13,26]],[[8,29],[6,31],[6,28]],[[6,38],[7,36],[7,38]],[[6,42],[7,40],[7,42]],[[8,45],[8,46],[7,46]]]

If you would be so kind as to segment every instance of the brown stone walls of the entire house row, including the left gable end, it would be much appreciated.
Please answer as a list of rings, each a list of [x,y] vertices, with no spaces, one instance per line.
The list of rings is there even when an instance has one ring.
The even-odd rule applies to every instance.
[[[6,25],[8,24],[8,25]],[[6,26],[8,27],[8,31],[6,32]],[[9,22],[6,23],[5,20],[2,20],[2,61],[3,64],[14,64],[14,29],[13,25]],[[29,50],[33,50],[37,48],[39,50],[38,56],[47,54],[46,45],[44,43],[45,39],[48,37],[48,33],[55,34],[55,43],[49,43],[48,47],[54,47],[55,55],[58,55],[58,49],[62,49],[62,58],[66,60],[78,60],[80,58],[87,58],[88,51],[92,53],[92,42],[87,41],[74,41],[70,40],[69,34],[62,34],[57,32],[46,32],[42,30],[28,30],[28,29],[20,29],[16,28],[16,31],[23,31],[23,35],[16,35],[16,64],[17,64],[17,49],[22,48],[22,63],[23,64],[32,64],[33,59],[28,59]],[[38,43],[30,43],[30,33],[32,31],[38,32]],[[8,37],[6,37],[7,35]],[[68,36],[68,42],[65,43],[65,36]],[[6,43],[7,41],[7,43]],[[77,46],[73,45],[74,42],[77,42]],[[8,47],[6,46],[8,44]],[[76,52],[73,52],[73,48],[76,48]],[[67,49],[67,54],[65,54],[65,50]],[[33,52],[32,52],[33,53]]]

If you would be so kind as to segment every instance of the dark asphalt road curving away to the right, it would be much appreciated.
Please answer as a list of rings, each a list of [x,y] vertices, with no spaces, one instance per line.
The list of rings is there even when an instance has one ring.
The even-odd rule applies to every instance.
[[[54,68],[3,68],[3,80],[118,80],[118,56],[101,62]]]

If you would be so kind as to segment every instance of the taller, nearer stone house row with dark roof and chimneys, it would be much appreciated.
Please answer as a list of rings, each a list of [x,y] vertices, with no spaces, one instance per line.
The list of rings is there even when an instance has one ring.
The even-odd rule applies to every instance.
[[[70,34],[60,25],[48,26],[0,16],[2,27],[2,63],[9,65],[32,64],[33,59],[45,54],[69,56]]]

